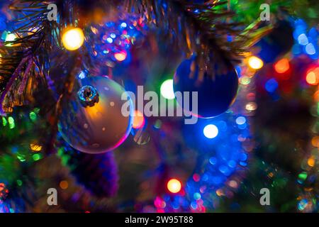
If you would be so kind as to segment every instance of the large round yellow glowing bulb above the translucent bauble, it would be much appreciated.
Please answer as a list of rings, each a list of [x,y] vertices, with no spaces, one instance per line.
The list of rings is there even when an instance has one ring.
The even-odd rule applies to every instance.
[[[80,28],[72,28],[62,35],[62,43],[67,50],[77,50],[84,43],[84,33]]]

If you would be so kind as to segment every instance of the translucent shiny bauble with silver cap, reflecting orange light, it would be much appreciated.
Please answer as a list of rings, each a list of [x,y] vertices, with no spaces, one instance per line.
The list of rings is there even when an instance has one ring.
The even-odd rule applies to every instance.
[[[121,98],[125,97],[125,100]],[[122,106],[125,105],[125,113]],[[62,137],[84,153],[105,153],[121,145],[133,125],[133,102],[108,77],[85,77],[62,104],[58,123]]]

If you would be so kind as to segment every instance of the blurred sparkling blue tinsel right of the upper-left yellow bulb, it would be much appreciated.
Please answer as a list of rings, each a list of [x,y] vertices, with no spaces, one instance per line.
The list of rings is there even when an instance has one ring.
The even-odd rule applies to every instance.
[[[118,21],[108,21],[102,26],[91,26],[88,44],[91,55],[113,67],[114,62],[128,60],[130,48],[142,37],[145,28],[142,18],[138,16],[120,16]]]

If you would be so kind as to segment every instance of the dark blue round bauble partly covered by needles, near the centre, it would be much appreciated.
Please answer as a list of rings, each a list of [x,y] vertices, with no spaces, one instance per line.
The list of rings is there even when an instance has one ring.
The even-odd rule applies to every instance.
[[[218,67],[215,67],[216,74],[211,76],[208,72],[199,76],[199,68],[195,57],[181,62],[174,75],[174,92],[190,92],[189,107],[184,111],[191,111],[191,114],[199,118],[211,118],[223,114],[235,101],[238,88],[237,72],[233,66],[228,67],[227,73],[218,74]],[[198,77],[199,76],[199,77]],[[198,92],[197,100],[193,100],[192,92]],[[194,106],[197,101],[197,111]]]

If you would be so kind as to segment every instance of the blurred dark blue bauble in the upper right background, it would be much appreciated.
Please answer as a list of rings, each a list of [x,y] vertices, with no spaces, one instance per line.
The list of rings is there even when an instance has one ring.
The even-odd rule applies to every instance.
[[[255,44],[257,55],[266,63],[289,52],[293,46],[293,28],[288,21],[279,21],[269,35]]]

